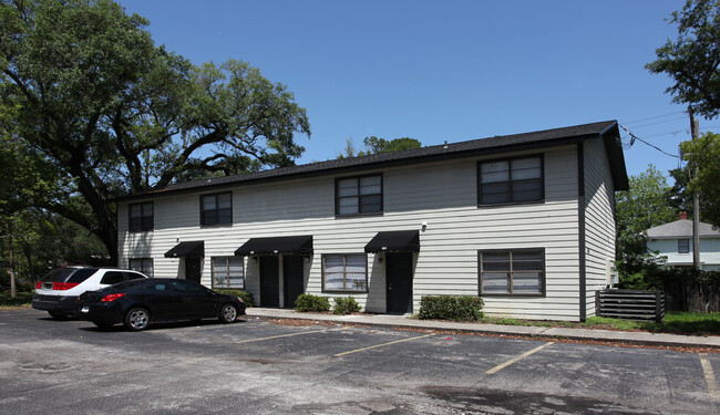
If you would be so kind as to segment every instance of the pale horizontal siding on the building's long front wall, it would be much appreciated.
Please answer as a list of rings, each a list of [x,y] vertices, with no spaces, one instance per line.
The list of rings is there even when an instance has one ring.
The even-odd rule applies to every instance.
[[[182,277],[183,260],[164,253],[178,241],[204,240],[203,282],[210,286],[209,263],[232,256],[249,238],[313,236],[313,257],[306,262],[306,292],[322,293],[323,253],[363,253],[378,231],[421,230],[414,256],[413,310],[426,294],[479,293],[477,251],[481,249],[544,248],[546,297],[486,297],[485,311],[526,319],[578,319],[577,159],[574,145],[492,155],[544,155],[545,201],[477,207],[477,162],[469,157],[445,162],[327,175],[276,183],[241,185],[233,191],[233,226],[199,227],[199,195],[158,197],[155,230],[127,234],[127,204],[119,206],[120,257],[152,257],[156,277]],[[381,173],[382,215],[335,216],[335,179]],[[385,311],[383,255],[368,255],[368,293],[353,293],[370,312]],[[246,288],[259,300],[259,267],[245,259]],[[261,300],[260,300],[261,301]]]

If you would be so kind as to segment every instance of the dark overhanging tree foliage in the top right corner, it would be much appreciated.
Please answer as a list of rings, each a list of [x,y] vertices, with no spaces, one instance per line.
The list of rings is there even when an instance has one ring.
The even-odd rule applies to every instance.
[[[675,81],[666,90],[673,102],[712,118],[720,111],[720,0],[687,0],[669,21],[678,37],[657,49],[658,59],[646,68]]]

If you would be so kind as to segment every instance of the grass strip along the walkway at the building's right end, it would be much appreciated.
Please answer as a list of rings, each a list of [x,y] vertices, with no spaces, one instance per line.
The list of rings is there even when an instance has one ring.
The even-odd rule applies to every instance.
[[[720,335],[720,313],[696,313],[671,311],[665,314],[661,323],[654,321],[634,321],[608,319],[601,317],[588,318],[583,323],[569,321],[536,321],[484,317],[477,321],[487,324],[535,325],[546,328],[604,329],[619,331],[649,331],[655,333]]]

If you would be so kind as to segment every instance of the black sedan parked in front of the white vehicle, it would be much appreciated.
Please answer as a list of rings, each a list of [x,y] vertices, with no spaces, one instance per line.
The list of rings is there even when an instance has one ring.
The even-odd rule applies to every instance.
[[[245,314],[237,297],[219,294],[197,282],[151,278],[88,291],[75,303],[75,315],[100,328],[124,323],[133,331],[161,321],[218,319],[232,323]]]

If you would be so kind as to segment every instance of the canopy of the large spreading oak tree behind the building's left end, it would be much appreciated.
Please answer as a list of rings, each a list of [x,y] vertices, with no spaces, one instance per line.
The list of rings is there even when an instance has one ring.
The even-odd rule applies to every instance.
[[[246,62],[194,65],[110,0],[0,0],[2,134],[53,184],[32,205],[116,255],[109,199],[175,180],[288,166],[305,108]]]

